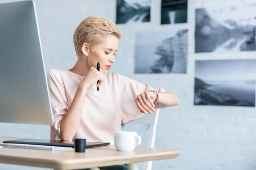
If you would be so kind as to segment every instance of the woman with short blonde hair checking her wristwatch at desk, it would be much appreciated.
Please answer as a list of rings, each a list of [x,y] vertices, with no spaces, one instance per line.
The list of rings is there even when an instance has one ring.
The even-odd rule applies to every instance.
[[[76,28],[76,64],[69,70],[52,69],[48,73],[54,116],[51,139],[85,138],[113,144],[114,132],[121,130],[121,124],[158,108],[178,105],[177,96],[162,88],[155,90],[134,79],[108,73],[120,38],[116,25],[104,17],[87,17]],[[96,69],[98,62],[100,71]]]

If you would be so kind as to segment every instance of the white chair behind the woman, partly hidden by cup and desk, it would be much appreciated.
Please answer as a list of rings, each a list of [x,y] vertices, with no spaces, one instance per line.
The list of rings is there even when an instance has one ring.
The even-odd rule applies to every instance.
[[[155,138],[156,138],[156,130],[157,130],[157,123],[159,117],[159,109],[152,114],[147,113],[146,115],[142,116],[140,119],[135,120],[134,122],[130,122],[123,128],[123,131],[129,131],[130,129],[128,126],[132,126],[134,124],[143,125],[138,132],[143,138],[143,134],[148,133],[148,141],[146,147],[154,148]],[[134,131],[134,130],[133,130]],[[143,170],[151,170],[152,169],[152,161],[144,162],[143,163]]]

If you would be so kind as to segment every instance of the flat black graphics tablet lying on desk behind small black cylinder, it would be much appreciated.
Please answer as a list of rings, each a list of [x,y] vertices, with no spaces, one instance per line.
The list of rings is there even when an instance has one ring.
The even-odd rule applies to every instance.
[[[3,143],[74,147],[74,143],[72,141],[47,140],[47,139],[18,139],[18,140],[3,141]],[[86,141],[86,148],[106,146],[109,144],[110,144],[109,142],[87,142]]]

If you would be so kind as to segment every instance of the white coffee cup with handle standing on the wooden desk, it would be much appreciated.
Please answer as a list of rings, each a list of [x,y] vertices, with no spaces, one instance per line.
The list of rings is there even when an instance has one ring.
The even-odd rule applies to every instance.
[[[137,132],[117,131],[114,137],[114,145],[118,151],[131,152],[141,144],[141,136]]]

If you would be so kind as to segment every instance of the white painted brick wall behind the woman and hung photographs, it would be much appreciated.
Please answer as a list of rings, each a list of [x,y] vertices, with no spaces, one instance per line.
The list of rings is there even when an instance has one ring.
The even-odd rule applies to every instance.
[[[13,0],[12,0],[13,1]],[[172,160],[154,161],[153,170],[256,170],[256,110],[193,106],[195,59],[256,58],[255,52],[194,54],[195,7],[256,3],[256,0],[189,0],[188,24],[160,26],[160,0],[152,0],[151,23],[119,25],[122,39],[113,72],[163,87],[177,94],[180,105],[160,110],[156,147],[181,150]],[[0,3],[11,0],[0,0]],[[46,69],[71,68],[76,62],[73,32],[82,19],[101,15],[115,20],[116,0],[35,0]],[[134,75],[137,31],[189,29],[187,74]],[[145,56],[146,57],[146,56]],[[166,80],[167,79],[167,80]],[[0,136],[49,138],[43,125],[0,124]],[[0,170],[37,169],[0,164]],[[39,169],[39,168],[38,168]]]

